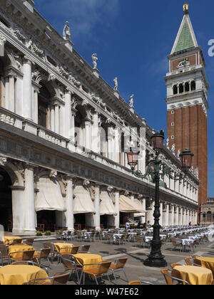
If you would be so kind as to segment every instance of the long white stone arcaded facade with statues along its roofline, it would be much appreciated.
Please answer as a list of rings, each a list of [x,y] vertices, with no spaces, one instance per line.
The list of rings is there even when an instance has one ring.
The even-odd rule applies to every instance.
[[[118,227],[135,215],[152,223],[155,185],[151,178],[131,174],[126,141],[139,146],[138,170],[145,172],[155,154],[150,142],[154,131],[133,102],[128,105],[121,98],[117,80],[111,88],[96,64],[91,67],[75,51],[68,28],[59,36],[33,1],[3,0],[0,34],[5,40],[0,174],[7,193],[2,193],[1,182],[0,192],[1,198],[11,196],[11,206],[4,204],[4,209],[11,214],[13,233],[35,234],[41,223],[70,230]],[[170,169],[182,170],[168,145],[161,159]],[[193,170],[182,182],[162,180],[162,225],[196,224],[200,182]],[[124,192],[128,202],[138,200],[141,213],[120,211]],[[111,206],[102,216],[101,201]],[[2,219],[0,208],[0,223]]]

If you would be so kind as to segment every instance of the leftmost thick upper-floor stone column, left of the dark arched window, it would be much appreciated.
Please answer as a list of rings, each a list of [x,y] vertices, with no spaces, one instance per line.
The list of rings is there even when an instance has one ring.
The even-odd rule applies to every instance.
[[[25,56],[23,63],[23,116],[28,120],[33,120],[32,115],[32,70],[31,61]]]

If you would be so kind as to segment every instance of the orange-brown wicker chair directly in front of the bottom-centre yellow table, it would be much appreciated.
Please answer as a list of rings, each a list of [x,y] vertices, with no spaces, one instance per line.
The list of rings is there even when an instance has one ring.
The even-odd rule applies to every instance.
[[[83,276],[83,285],[85,284],[85,275],[86,274],[93,276],[94,279],[96,280],[97,285],[98,285],[97,278],[100,278],[103,276],[107,276],[109,283],[111,283],[111,280],[108,276],[108,270],[109,270],[109,267],[111,266],[111,263],[112,263],[112,261],[103,261],[101,263],[91,263],[91,264],[83,265],[79,284],[81,284],[82,276]],[[84,266],[87,266],[87,268],[84,269],[85,268]],[[92,267],[88,268],[88,266],[92,266]],[[94,266],[97,266],[97,267],[94,267]]]

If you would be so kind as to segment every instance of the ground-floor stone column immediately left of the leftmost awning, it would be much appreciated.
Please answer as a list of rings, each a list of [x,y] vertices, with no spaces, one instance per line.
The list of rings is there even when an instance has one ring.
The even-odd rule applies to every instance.
[[[34,166],[26,164],[24,190],[25,233],[36,233],[36,211],[34,201]]]

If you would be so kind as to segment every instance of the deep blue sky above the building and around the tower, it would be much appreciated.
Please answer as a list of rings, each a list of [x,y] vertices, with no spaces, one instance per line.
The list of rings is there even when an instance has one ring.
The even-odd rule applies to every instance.
[[[91,64],[98,55],[98,70],[128,102],[134,94],[136,112],[148,125],[166,132],[165,80],[167,57],[183,18],[184,0],[34,0],[36,10],[63,33],[69,21],[74,48]],[[214,39],[214,1],[189,0],[190,19],[203,48],[210,84],[208,103],[208,196],[214,197],[214,56],[208,41]],[[92,64],[91,64],[92,65]]]

